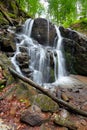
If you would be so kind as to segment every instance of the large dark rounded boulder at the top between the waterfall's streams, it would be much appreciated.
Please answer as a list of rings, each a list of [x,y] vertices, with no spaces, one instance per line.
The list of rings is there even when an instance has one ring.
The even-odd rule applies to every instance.
[[[44,18],[37,18],[34,20],[31,36],[42,45],[53,46],[56,30],[51,22],[48,23]]]

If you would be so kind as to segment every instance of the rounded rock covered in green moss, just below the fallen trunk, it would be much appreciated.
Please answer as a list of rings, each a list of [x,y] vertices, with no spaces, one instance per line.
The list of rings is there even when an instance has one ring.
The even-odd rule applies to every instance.
[[[56,112],[59,109],[57,103],[46,95],[38,94],[33,97],[33,103],[38,105],[44,112]]]

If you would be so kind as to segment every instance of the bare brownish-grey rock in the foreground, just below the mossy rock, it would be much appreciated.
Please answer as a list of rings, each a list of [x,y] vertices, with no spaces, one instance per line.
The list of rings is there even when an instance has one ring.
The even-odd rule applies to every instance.
[[[31,126],[39,126],[46,119],[45,116],[41,113],[40,109],[34,105],[32,109],[29,108],[22,113],[20,120]]]

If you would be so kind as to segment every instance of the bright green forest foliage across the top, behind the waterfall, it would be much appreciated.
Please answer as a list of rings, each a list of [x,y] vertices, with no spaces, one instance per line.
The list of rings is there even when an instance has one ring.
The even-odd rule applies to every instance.
[[[40,0],[16,0],[22,10],[25,10],[30,16],[45,16],[56,24],[62,24],[68,27],[80,17],[87,16],[87,0],[47,0],[48,8]],[[45,12],[46,10],[46,12]]]

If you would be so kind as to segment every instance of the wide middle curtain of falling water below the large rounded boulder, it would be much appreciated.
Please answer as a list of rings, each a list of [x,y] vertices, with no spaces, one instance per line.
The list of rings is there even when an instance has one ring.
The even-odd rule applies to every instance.
[[[33,80],[39,84],[48,82],[50,58],[47,59],[47,49],[41,45],[36,45],[30,49],[29,54],[31,57],[30,67],[33,69]]]

